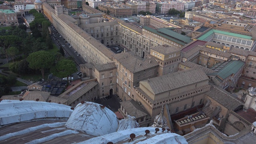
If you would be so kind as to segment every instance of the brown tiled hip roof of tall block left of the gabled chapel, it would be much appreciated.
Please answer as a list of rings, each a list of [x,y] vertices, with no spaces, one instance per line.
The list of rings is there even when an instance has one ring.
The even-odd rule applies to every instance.
[[[132,73],[158,66],[158,62],[156,62],[154,58],[143,60],[143,58],[138,58],[133,54],[130,54],[130,52],[116,54],[114,58]]]

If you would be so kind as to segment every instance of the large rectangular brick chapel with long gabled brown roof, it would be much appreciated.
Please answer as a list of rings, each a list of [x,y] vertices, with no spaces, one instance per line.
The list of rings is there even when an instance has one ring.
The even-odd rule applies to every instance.
[[[209,92],[209,78],[200,69],[182,70],[140,81],[134,100],[141,102],[151,117],[161,112],[164,104],[175,114],[202,104]]]

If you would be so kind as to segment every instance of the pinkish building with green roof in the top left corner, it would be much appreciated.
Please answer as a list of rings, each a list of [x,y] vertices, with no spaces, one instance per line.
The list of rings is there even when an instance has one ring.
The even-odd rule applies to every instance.
[[[17,13],[14,10],[0,9],[0,25],[11,26],[11,24],[18,25]]]

